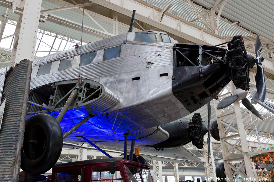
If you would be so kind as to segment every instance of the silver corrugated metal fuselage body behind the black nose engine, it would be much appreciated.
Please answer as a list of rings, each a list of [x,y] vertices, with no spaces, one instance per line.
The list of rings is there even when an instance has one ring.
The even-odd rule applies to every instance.
[[[172,93],[173,45],[134,42],[134,32],[118,35],[84,45],[82,54],[97,51],[90,65],[80,67],[82,78],[94,80],[104,86],[105,96],[80,105],[79,110],[102,115],[116,112],[131,120],[129,130],[146,129],[177,120],[190,112]],[[118,58],[103,61],[104,49],[121,45]],[[30,89],[63,80],[78,78],[79,66],[63,71],[34,76],[38,66],[57,62],[80,53],[80,48],[52,54],[33,62]],[[73,67],[73,66],[72,66]],[[160,76],[165,74],[167,76]],[[140,79],[132,80],[132,78]],[[111,101],[111,99],[115,99]],[[76,106],[70,107],[70,109]],[[55,109],[60,110],[60,109]],[[121,126],[120,126],[121,127]],[[126,129],[125,129],[126,130]]]

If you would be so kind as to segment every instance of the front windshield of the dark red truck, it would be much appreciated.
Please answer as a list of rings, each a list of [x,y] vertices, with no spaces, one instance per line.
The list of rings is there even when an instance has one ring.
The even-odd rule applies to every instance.
[[[129,180],[131,182],[142,182],[137,167],[126,165],[126,169],[127,169]],[[144,182],[153,182],[151,174],[148,169],[140,168],[140,171],[141,171]]]

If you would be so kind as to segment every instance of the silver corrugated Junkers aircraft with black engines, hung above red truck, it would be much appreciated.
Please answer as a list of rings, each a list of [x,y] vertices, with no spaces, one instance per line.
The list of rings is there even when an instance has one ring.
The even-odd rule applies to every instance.
[[[259,39],[254,58],[240,35],[226,42],[226,50],[179,43],[165,32],[132,32],[132,23],[128,33],[33,61],[21,152],[24,171],[49,170],[63,139],[125,148],[132,140],[145,153],[163,150],[161,155],[198,160],[180,146],[191,141],[201,149],[206,132],[209,143],[210,132],[218,136],[216,122],[206,128],[199,114],[191,121],[170,122],[209,103],[231,80],[248,90],[255,63],[258,95],[264,100]]]

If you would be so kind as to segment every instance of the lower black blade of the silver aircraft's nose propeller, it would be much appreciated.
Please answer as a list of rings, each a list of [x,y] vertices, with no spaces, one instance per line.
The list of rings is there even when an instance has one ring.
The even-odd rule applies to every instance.
[[[257,73],[255,76],[256,88],[259,99],[261,102],[265,100],[266,86],[265,86],[265,73],[262,64],[257,64]]]

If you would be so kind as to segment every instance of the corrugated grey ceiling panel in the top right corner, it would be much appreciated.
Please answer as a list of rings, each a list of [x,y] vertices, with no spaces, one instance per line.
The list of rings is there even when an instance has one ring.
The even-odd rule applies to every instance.
[[[215,0],[195,0],[201,5],[211,8]],[[274,41],[274,1],[230,0],[223,8],[222,15],[241,22],[240,25],[253,32],[259,32],[263,37]]]

